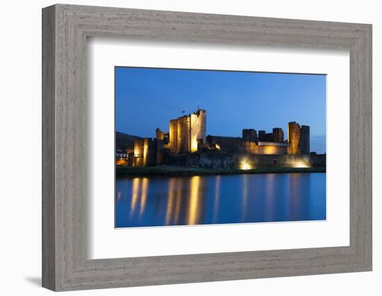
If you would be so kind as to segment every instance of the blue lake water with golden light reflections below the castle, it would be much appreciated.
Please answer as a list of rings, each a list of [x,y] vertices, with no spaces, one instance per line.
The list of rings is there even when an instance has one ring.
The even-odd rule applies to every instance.
[[[115,227],[326,219],[325,173],[126,177]]]

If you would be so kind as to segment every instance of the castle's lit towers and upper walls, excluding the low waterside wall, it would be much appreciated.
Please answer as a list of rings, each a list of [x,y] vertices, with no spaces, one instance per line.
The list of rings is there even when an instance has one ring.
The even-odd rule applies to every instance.
[[[240,155],[309,155],[310,129],[297,122],[288,123],[287,139],[282,128],[265,132],[254,128],[243,129],[242,137],[206,136],[206,110],[169,121],[169,132],[156,129],[154,139],[134,141],[134,152],[129,155],[130,166],[169,164],[176,155],[191,155],[216,150]]]

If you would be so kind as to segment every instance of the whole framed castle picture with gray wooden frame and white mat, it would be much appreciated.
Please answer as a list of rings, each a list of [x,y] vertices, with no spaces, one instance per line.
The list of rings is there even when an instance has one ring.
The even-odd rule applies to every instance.
[[[372,26],[42,10],[42,285],[372,270]]]

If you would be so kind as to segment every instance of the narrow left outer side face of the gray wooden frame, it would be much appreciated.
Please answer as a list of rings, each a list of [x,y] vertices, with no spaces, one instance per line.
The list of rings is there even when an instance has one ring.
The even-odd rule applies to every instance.
[[[55,8],[42,14],[42,286],[56,287]]]

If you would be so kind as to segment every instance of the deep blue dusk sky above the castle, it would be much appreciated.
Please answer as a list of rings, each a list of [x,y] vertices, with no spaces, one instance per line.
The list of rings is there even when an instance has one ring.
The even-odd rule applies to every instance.
[[[198,105],[207,110],[207,134],[282,128],[286,139],[288,122],[297,121],[310,125],[310,150],[326,152],[324,75],[115,67],[118,132],[155,137]]]

